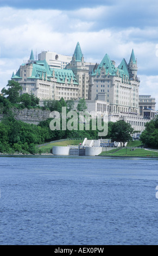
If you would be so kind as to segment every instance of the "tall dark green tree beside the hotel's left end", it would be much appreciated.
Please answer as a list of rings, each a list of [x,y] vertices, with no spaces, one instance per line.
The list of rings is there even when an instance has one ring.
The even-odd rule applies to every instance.
[[[2,93],[4,96],[7,96],[7,99],[11,103],[18,103],[20,102],[20,91],[22,90],[22,87],[19,83],[15,82],[14,80],[9,80],[7,84],[8,89],[3,88]]]

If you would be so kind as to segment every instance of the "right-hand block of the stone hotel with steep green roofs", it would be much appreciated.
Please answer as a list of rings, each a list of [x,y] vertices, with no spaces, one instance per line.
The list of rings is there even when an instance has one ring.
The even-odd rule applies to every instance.
[[[91,75],[91,99],[97,99],[98,93],[105,93],[111,113],[139,113],[140,80],[136,74],[137,62],[133,51],[132,56],[133,60],[130,59],[129,65],[123,59],[116,68],[115,62],[105,54],[102,62]]]

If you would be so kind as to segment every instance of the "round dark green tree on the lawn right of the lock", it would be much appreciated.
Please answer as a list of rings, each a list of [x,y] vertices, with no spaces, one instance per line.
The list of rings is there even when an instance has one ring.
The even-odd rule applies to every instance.
[[[132,140],[131,133],[134,129],[129,123],[126,123],[124,120],[119,120],[116,123],[112,124],[111,127],[111,139],[112,141],[123,143],[129,142]]]

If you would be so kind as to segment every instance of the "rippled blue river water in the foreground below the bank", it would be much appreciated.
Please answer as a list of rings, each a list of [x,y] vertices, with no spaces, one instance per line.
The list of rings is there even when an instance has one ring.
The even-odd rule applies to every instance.
[[[157,163],[0,157],[0,244],[158,245]]]

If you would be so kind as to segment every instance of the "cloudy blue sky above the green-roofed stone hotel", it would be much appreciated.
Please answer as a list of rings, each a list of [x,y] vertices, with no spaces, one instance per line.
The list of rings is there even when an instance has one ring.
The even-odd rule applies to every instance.
[[[116,66],[133,48],[140,95],[155,97],[158,110],[156,0],[0,0],[0,91],[31,50],[72,56],[77,42],[86,62],[108,53]]]

